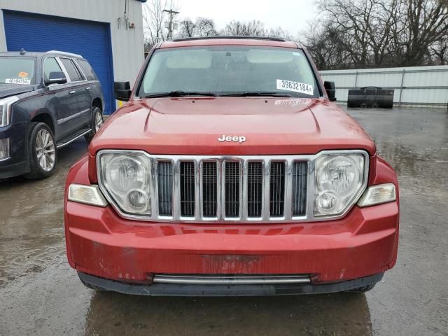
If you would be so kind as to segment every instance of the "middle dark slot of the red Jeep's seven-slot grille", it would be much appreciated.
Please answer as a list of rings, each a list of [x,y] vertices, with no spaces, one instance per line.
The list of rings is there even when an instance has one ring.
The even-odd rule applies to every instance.
[[[240,202],[240,165],[239,162],[226,161],[225,162],[225,217],[238,218],[239,217],[239,202]]]

